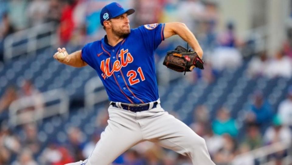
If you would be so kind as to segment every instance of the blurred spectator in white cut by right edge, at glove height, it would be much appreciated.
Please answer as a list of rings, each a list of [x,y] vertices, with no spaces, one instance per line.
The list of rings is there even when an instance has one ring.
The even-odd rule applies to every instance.
[[[291,59],[288,58],[282,50],[277,52],[274,59],[269,61],[265,73],[266,76],[269,78],[273,77],[290,78],[292,76]]]

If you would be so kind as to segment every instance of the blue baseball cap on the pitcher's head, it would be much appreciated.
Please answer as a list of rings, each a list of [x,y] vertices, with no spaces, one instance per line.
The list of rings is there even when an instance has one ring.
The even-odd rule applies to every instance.
[[[131,15],[135,12],[134,9],[123,9],[122,5],[117,2],[112,2],[101,9],[100,12],[100,24],[103,26],[103,21],[109,20],[111,18],[127,13]]]

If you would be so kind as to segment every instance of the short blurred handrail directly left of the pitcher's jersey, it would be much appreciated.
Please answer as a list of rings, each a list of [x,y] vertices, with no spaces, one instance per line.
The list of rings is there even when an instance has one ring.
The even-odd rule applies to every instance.
[[[93,77],[84,85],[85,107],[91,109],[95,104],[108,100],[108,96],[99,77]]]

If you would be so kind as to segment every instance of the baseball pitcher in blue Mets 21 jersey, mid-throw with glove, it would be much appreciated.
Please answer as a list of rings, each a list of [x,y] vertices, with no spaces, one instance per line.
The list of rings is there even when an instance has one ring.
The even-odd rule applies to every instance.
[[[198,41],[185,24],[178,22],[130,29],[128,16],[134,12],[134,9],[123,9],[116,2],[106,5],[100,13],[100,23],[106,30],[104,38],[70,55],[65,48],[58,48],[54,55],[60,63],[74,67],[89,65],[95,69],[110,100],[108,126],[91,156],[67,165],[108,165],[143,141],[189,156],[195,165],[214,165],[204,139],[160,106],[155,74],[155,49],[176,34],[195,52],[177,48],[168,53],[187,62],[188,68],[182,69],[181,65],[176,65],[179,62],[169,57],[171,60],[166,60],[165,65],[181,72],[194,67],[202,69],[203,51]]]

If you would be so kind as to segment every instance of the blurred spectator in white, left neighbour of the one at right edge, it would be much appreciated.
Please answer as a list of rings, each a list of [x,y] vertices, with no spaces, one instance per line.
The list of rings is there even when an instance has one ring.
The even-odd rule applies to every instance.
[[[251,77],[264,76],[268,67],[268,57],[266,52],[262,52],[260,56],[252,57],[248,64],[248,74]]]

